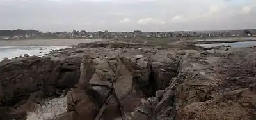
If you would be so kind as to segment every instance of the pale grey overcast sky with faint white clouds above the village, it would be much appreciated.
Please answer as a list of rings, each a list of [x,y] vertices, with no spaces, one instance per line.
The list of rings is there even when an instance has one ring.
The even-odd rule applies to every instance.
[[[256,0],[0,0],[0,29],[255,29]]]

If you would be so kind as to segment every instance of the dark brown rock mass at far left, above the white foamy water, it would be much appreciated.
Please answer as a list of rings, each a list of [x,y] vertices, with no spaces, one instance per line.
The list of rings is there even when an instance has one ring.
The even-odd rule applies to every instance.
[[[35,91],[51,95],[51,88],[70,88],[79,79],[79,58],[52,60],[49,57],[23,57],[1,62],[1,104],[13,105]],[[51,91],[49,91],[51,90]]]

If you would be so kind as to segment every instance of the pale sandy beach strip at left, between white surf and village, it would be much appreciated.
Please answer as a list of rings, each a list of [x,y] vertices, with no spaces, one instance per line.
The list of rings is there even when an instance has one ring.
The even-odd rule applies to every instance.
[[[79,43],[102,41],[102,39],[28,39],[0,40],[0,46],[72,46]]]

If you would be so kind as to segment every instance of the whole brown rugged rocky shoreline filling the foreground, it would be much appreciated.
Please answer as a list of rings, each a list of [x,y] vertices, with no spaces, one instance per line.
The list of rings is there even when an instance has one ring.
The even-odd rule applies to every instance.
[[[0,119],[60,95],[67,112],[51,119],[255,119],[256,48],[175,46],[106,41],[3,60]]]

